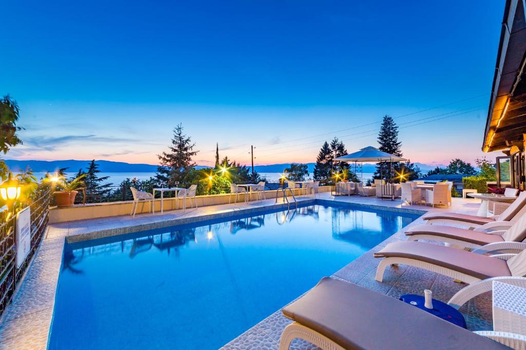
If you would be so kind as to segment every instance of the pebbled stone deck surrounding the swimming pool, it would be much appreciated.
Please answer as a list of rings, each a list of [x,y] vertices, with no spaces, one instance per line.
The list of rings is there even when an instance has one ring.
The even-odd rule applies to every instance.
[[[445,207],[431,208],[424,205],[401,205],[400,200],[389,201],[373,197],[359,197],[357,195],[331,197],[330,193],[320,193],[318,199],[356,203],[372,208],[383,207],[384,209],[389,208],[389,210],[395,211],[446,210]],[[314,201],[313,197],[298,197],[298,202],[313,203]],[[186,211],[170,211],[164,214],[142,214],[137,215],[135,218],[120,216],[50,224],[31,267],[29,267],[24,280],[16,291],[12,304],[7,307],[2,317],[2,323],[0,324],[0,348],[46,348],[65,239],[68,241],[80,241],[167,227],[174,224],[228,217],[232,213],[257,213],[278,207],[286,208],[286,204],[276,204],[274,199],[268,199],[248,203],[193,208]],[[478,207],[478,200],[453,198],[452,207],[447,210],[476,214]],[[410,225],[420,223],[422,223],[422,220],[417,219]],[[454,283],[448,277],[404,265],[386,270],[383,282],[376,282],[374,276],[379,259],[373,258],[372,253],[378,251],[387,243],[398,240],[405,240],[401,231],[393,234],[375,248],[335,272],[332,277],[350,283],[357,283],[393,297],[406,293],[422,293],[424,289],[431,289],[433,297],[444,302],[447,302],[454,293],[464,286],[460,283]],[[461,308],[461,312],[466,316],[470,330],[492,329],[491,298],[488,295],[474,298]],[[290,322],[281,315],[281,310],[277,310],[274,314],[226,344],[224,348],[277,349],[281,332]],[[296,339],[291,348],[314,349],[317,347]]]

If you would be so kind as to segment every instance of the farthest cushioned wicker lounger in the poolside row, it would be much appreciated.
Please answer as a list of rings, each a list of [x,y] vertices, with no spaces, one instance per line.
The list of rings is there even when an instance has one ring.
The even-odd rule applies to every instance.
[[[495,221],[511,221],[526,204],[526,191],[521,192],[519,197],[504,212],[497,217],[478,217],[476,215],[460,214],[453,212],[431,212],[423,215],[422,219],[427,224],[457,224],[467,225],[468,227],[479,227]],[[525,209],[526,210],[526,209]],[[515,219],[518,220],[518,219]]]

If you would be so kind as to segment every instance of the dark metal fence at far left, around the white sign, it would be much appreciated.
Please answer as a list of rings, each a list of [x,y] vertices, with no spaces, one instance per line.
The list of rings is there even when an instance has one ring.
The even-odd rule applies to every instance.
[[[49,189],[35,192],[31,198],[31,247],[20,267],[16,265],[16,215],[0,212],[0,316],[11,302],[18,283],[35,255],[46,231],[49,218]]]

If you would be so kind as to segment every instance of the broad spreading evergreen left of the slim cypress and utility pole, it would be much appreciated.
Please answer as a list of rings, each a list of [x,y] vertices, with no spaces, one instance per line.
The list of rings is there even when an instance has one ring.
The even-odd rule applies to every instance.
[[[157,155],[160,165],[157,167],[156,178],[162,182],[183,182],[188,171],[196,166],[192,157],[197,155],[194,151],[195,143],[183,133],[183,126],[177,125],[174,129],[174,137],[169,152]]]

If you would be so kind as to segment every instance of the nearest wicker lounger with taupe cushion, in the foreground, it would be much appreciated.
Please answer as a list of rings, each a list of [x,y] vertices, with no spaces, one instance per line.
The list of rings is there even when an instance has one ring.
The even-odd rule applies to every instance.
[[[281,335],[280,350],[295,338],[326,350],[507,348],[393,297],[329,277],[282,312],[295,322]],[[499,341],[509,334],[489,333]]]

